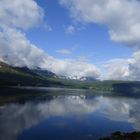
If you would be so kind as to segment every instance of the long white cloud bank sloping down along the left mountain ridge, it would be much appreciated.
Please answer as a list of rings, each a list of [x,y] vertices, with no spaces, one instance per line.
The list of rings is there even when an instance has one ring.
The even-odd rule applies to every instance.
[[[68,77],[97,78],[99,70],[87,62],[53,58],[33,45],[19,30],[6,28],[0,32],[0,59],[13,66],[40,67]]]

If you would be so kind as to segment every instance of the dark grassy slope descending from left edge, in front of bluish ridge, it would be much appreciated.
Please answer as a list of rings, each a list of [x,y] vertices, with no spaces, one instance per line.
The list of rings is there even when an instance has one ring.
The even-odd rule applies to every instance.
[[[45,77],[24,72],[0,62],[0,85],[56,86],[61,85]]]

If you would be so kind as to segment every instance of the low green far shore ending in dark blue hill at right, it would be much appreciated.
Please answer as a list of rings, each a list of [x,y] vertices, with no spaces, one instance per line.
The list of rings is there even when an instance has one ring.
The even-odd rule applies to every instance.
[[[78,81],[53,79],[69,88],[92,89],[103,92],[140,93],[140,82],[131,81]]]

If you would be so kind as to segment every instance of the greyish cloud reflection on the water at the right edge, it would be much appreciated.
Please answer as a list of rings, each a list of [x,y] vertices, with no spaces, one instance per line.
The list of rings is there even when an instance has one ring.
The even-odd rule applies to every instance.
[[[140,99],[104,98],[105,108],[101,110],[109,119],[127,121],[140,131]]]

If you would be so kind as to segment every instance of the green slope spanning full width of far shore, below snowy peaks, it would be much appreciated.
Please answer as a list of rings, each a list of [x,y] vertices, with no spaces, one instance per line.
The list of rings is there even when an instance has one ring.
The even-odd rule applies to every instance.
[[[22,86],[47,86],[93,89],[98,91],[116,91],[127,93],[140,93],[140,82],[129,81],[78,81],[60,79],[54,77],[43,77],[32,73],[15,69],[0,62],[0,86],[22,85]]]

